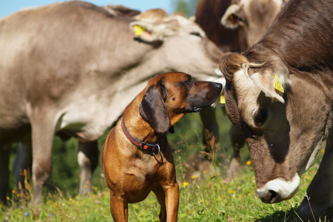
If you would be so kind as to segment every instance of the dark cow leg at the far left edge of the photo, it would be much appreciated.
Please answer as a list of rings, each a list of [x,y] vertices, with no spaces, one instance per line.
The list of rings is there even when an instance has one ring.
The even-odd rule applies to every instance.
[[[0,201],[6,200],[9,181],[9,146],[0,145]]]

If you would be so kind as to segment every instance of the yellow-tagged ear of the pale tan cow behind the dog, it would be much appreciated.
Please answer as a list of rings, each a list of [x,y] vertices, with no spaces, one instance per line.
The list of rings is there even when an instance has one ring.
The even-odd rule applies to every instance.
[[[135,21],[130,23],[130,29],[133,30],[135,37],[143,42],[162,42],[165,37],[176,33],[174,25],[176,21],[151,23],[148,21]]]

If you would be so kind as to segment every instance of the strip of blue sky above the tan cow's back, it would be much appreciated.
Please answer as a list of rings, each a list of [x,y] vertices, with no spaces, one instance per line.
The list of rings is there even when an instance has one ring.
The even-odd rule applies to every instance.
[[[4,17],[19,9],[47,5],[55,2],[55,0],[0,0],[0,17]],[[172,13],[172,0],[90,0],[87,1],[97,6],[102,5],[124,5],[140,11],[145,11],[152,8],[162,8],[168,14]]]

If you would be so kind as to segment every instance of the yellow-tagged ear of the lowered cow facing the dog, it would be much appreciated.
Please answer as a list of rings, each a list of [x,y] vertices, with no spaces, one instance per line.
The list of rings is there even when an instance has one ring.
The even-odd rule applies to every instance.
[[[273,62],[267,62],[261,68],[251,68],[250,65],[245,70],[255,85],[259,87],[267,97],[274,98],[284,103],[283,93],[285,93],[286,88],[291,85],[291,81],[289,79],[289,71],[280,59],[276,58]]]

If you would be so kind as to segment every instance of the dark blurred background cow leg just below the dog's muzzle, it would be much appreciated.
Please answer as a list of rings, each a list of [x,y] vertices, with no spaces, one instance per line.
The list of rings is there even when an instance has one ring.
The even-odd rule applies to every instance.
[[[200,112],[202,129],[202,143],[205,146],[205,152],[210,153],[209,142],[214,136],[216,141],[219,135],[219,128],[215,119],[215,110],[213,107],[206,107]],[[209,135],[207,135],[207,131]]]

